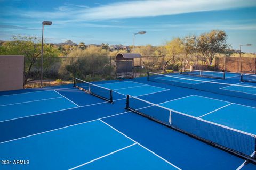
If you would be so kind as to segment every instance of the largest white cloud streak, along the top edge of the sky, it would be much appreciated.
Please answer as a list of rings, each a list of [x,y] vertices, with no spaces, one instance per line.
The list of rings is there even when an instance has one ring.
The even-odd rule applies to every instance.
[[[18,14],[27,18],[49,16],[52,19],[67,19],[69,22],[81,22],[174,15],[252,6],[256,6],[255,0],[147,0],[117,2],[108,5],[100,5],[94,8],[66,4],[65,6],[55,8],[53,12],[23,11]],[[76,8],[76,10],[74,10],[74,8]]]

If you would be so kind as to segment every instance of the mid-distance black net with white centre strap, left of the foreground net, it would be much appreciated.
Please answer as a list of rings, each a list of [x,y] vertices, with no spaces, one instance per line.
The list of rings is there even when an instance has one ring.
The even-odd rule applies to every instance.
[[[92,84],[78,78],[74,78],[74,87],[113,103],[113,91],[111,89],[101,87],[97,84]]]

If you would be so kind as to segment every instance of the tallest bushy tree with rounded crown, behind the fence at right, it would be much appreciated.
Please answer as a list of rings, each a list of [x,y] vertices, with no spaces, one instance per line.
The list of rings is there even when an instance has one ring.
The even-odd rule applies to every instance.
[[[197,56],[198,60],[205,62],[210,67],[215,55],[225,53],[229,47],[226,40],[227,34],[222,30],[202,33],[196,41],[196,51],[199,55],[201,54],[201,56]]]

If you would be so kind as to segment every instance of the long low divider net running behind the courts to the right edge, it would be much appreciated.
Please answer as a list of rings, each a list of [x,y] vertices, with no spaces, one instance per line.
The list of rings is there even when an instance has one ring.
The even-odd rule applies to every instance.
[[[235,79],[213,81],[212,79],[191,78],[187,75],[166,75],[148,72],[148,81],[170,84],[173,86],[213,92],[215,94],[234,96],[239,98],[256,100],[256,86],[247,84],[235,84],[239,81],[239,74]],[[234,83],[233,83],[234,82]]]

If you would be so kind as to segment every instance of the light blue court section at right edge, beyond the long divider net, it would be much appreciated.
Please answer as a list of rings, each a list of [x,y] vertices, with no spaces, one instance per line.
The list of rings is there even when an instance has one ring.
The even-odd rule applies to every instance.
[[[242,86],[236,86],[236,85],[242,85]],[[221,89],[256,95],[256,83],[243,82],[243,83],[234,84],[234,86],[223,87]]]

